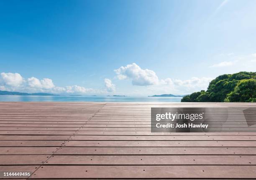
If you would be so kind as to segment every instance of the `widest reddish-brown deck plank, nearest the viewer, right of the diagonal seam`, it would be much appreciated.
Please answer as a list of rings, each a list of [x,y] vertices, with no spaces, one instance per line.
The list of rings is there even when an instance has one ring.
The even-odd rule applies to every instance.
[[[31,178],[256,178],[254,165],[44,165]]]

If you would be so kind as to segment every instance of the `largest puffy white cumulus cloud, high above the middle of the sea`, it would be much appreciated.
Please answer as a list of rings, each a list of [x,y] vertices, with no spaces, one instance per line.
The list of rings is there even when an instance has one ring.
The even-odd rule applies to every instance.
[[[114,71],[119,80],[129,78],[132,80],[133,85],[155,85],[159,81],[154,71],[148,69],[143,70],[141,67],[136,65],[136,63],[126,65],[125,67],[121,66]]]

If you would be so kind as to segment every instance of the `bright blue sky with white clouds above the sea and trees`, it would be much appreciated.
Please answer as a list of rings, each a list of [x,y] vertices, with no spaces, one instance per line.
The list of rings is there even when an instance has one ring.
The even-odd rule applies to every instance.
[[[254,0],[2,0],[0,90],[205,89],[218,75],[255,71],[255,9]]]

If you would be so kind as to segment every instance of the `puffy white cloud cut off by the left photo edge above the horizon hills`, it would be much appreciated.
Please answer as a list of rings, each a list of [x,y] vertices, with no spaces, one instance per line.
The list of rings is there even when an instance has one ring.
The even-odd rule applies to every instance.
[[[0,76],[0,84],[10,87],[19,87],[24,82],[23,77],[19,73],[2,72]]]

